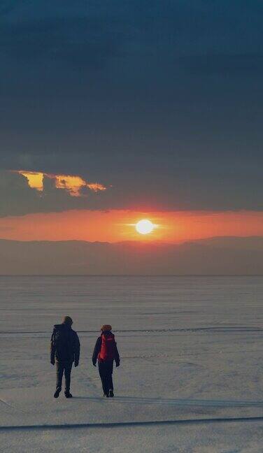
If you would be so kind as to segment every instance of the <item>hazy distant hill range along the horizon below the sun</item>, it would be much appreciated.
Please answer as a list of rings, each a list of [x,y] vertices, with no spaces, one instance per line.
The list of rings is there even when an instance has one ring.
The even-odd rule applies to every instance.
[[[1,275],[263,275],[263,237],[180,245],[0,240]]]

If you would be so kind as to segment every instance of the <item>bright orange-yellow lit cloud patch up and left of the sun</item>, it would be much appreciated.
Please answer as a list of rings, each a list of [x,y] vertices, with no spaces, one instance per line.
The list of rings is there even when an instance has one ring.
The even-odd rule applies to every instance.
[[[106,187],[99,182],[87,182],[78,175],[55,175],[52,173],[43,173],[36,171],[14,171],[27,178],[28,185],[31,189],[36,189],[39,192],[43,192],[44,189],[44,177],[50,178],[55,181],[55,187],[57,189],[64,189],[69,192],[71,196],[82,196],[81,191],[85,188],[92,190],[92,192],[100,192],[106,190]]]

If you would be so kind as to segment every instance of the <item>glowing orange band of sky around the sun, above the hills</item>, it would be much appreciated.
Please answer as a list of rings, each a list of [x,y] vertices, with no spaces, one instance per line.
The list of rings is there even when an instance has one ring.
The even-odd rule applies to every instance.
[[[138,234],[135,225],[149,219],[157,225],[150,234]],[[213,236],[263,236],[263,213],[149,212],[129,210],[69,210],[0,218],[0,236],[13,240],[87,240],[145,243],[182,243]]]

